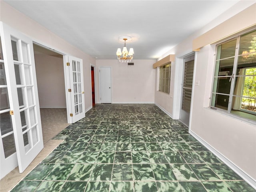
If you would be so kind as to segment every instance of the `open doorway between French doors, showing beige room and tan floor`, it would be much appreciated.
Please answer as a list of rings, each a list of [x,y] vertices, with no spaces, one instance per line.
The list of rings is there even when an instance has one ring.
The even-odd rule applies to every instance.
[[[66,128],[63,55],[33,44],[44,143]]]

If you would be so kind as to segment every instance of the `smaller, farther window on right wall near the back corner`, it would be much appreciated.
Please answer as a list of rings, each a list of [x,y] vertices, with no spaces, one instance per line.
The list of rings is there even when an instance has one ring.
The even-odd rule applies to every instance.
[[[170,93],[171,63],[161,66],[159,69],[159,91]]]

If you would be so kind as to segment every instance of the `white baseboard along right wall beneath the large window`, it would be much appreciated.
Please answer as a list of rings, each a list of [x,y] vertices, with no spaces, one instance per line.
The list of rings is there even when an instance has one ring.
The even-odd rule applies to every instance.
[[[218,150],[210,146],[206,141],[204,141],[202,138],[200,138],[197,134],[195,134],[193,131],[189,131],[194,138],[196,138],[201,144],[203,144],[208,150],[210,150],[214,155],[216,155],[220,160],[222,160],[229,168],[231,168],[234,172],[236,172],[240,177],[242,177],[250,186],[252,186],[254,189],[256,189],[256,180],[246,174],[242,169],[240,169],[236,164],[228,160],[225,156],[223,156]]]

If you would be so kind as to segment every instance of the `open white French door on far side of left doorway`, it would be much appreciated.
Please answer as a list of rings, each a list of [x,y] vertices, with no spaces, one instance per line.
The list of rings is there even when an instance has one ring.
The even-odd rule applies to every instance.
[[[68,56],[68,71],[70,88],[70,118],[71,123],[77,122],[85,117],[84,109],[84,73],[83,60],[73,56]]]

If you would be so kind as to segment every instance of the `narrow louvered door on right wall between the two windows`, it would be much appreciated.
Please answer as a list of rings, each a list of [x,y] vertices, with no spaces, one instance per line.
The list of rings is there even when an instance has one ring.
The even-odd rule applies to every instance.
[[[194,55],[188,58],[184,58],[184,74],[182,83],[182,102],[180,109],[180,120],[189,125],[190,118],[190,104],[193,84],[193,72],[194,72]]]

